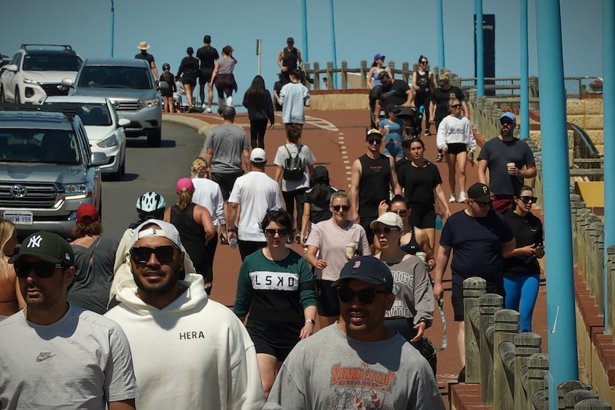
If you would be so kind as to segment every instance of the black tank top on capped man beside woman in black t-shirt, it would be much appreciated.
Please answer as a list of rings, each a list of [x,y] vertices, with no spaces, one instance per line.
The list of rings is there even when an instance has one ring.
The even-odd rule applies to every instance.
[[[379,154],[379,158],[361,155],[361,179],[359,181],[359,215],[360,217],[378,217],[380,201],[389,199],[391,164],[389,158]]]

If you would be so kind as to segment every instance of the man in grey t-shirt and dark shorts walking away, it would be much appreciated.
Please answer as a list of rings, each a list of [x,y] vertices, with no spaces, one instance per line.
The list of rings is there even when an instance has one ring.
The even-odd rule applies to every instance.
[[[212,128],[205,143],[205,161],[210,165],[213,182],[220,185],[224,198],[224,213],[228,215],[228,197],[235,180],[250,172],[250,145],[243,128],[235,125],[235,108],[222,109],[223,121]]]

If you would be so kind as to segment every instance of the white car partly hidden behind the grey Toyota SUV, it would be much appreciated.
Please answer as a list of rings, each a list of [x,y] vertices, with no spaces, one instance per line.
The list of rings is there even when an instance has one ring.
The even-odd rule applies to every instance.
[[[126,173],[126,133],[124,126],[131,123],[118,118],[108,98],[62,96],[48,97],[46,105],[68,107],[75,110],[86,126],[86,133],[93,153],[104,153],[107,163],[101,166],[103,173],[111,174],[118,180]]]

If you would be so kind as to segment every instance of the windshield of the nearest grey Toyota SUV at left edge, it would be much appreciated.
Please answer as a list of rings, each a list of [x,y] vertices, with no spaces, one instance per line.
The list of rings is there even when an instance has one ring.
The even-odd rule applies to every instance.
[[[80,158],[71,130],[0,129],[0,162],[77,165]]]

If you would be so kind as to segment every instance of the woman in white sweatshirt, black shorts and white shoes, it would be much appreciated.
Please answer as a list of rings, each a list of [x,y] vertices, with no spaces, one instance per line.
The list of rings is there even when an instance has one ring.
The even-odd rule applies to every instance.
[[[472,125],[469,119],[462,115],[462,104],[451,94],[449,98],[450,116],[445,117],[438,127],[436,144],[439,150],[446,155],[449,165],[449,184],[451,185],[451,198],[449,203],[463,203],[467,201],[465,193],[465,168],[467,165],[469,148],[469,160],[474,164],[474,150],[476,140],[472,133]],[[459,198],[455,195],[455,170],[459,173]]]

